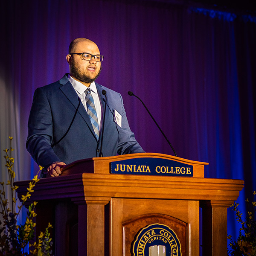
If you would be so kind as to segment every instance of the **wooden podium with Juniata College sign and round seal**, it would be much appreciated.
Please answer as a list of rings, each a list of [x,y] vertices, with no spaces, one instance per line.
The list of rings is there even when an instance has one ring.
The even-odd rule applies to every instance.
[[[169,169],[161,166],[156,170],[162,176],[145,175],[146,164],[136,175],[137,167],[131,174],[110,173],[116,161],[144,158],[192,166],[193,176],[169,176]],[[53,225],[55,256],[146,256],[146,239],[169,244],[174,256],[199,256],[200,233],[203,255],[227,256],[227,207],[236,201],[244,182],[204,178],[206,164],[155,153],[79,160],[66,166],[61,176],[41,179],[27,203],[38,201],[37,234],[48,222]],[[15,183],[19,198],[28,182]],[[155,224],[177,236],[179,253],[171,231],[159,231]],[[151,233],[143,234],[150,227]]]

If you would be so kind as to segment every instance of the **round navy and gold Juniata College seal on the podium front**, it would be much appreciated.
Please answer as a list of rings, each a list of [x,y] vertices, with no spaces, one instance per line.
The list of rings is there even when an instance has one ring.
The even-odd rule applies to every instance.
[[[133,256],[181,256],[180,240],[164,224],[151,224],[140,230],[132,244]]]

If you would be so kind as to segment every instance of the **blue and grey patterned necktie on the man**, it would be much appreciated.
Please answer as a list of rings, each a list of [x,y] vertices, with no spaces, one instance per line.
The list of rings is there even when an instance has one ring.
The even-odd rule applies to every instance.
[[[88,88],[84,91],[86,94],[86,106],[88,110],[88,114],[90,116],[90,121],[93,125],[94,133],[96,134],[97,140],[99,140],[99,122],[97,118],[96,108],[93,101],[93,96],[91,95],[91,90]]]

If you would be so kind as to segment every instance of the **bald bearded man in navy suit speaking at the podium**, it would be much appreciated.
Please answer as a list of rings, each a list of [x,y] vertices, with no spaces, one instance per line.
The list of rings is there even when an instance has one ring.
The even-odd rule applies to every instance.
[[[76,38],[66,57],[70,73],[35,90],[26,148],[52,177],[76,160],[144,152],[129,128],[122,96],[95,82],[103,57],[93,41]]]

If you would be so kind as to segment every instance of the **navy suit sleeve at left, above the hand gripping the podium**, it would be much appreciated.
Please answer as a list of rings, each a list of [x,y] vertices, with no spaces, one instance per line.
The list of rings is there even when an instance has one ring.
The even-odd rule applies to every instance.
[[[38,165],[60,161],[52,147],[52,113],[44,88],[35,90],[29,114],[26,148]]]

